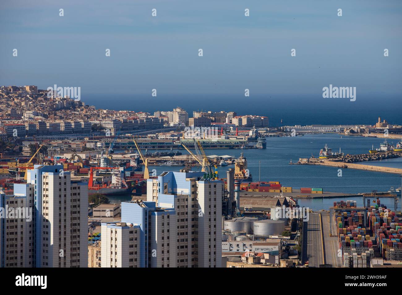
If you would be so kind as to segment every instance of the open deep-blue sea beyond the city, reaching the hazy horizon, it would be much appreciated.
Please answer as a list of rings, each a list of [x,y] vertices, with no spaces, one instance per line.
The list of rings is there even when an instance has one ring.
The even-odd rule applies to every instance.
[[[254,114],[269,117],[270,126],[283,125],[332,125],[370,124],[377,122],[378,116],[390,124],[401,124],[402,104],[399,97],[357,97],[355,102],[345,99],[324,99],[321,95],[289,97],[267,96],[244,97],[193,95],[171,96],[158,92],[157,97],[140,94],[87,94],[82,95],[85,104],[109,110],[132,110],[154,114],[157,110],[172,110],[180,106],[192,117],[193,111],[211,110],[236,112],[238,115]],[[281,124],[282,119],[282,124]]]

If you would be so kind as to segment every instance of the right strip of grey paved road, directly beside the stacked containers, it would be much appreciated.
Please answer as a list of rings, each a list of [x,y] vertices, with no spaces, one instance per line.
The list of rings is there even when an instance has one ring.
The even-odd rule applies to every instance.
[[[322,226],[324,228],[324,247],[325,247],[325,259],[327,264],[332,264],[332,267],[342,266],[342,256],[339,257],[340,251],[338,244],[338,236],[336,236],[336,224],[334,222],[334,212],[331,212],[331,225],[332,236],[330,236],[330,212],[322,211]]]

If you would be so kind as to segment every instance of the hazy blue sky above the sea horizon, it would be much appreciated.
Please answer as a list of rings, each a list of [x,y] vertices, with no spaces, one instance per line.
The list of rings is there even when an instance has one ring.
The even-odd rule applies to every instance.
[[[322,99],[329,84],[357,87],[358,100],[400,95],[401,1],[13,0],[0,6],[1,85],[76,86],[83,98],[148,97],[153,88],[158,97],[244,98],[248,88],[251,96]]]

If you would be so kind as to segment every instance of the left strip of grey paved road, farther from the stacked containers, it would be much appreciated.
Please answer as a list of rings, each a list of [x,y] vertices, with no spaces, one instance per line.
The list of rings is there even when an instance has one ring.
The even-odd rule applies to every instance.
[[[307,226],[307,260],[309,267],[324,264],[320,214],[310,213]]]

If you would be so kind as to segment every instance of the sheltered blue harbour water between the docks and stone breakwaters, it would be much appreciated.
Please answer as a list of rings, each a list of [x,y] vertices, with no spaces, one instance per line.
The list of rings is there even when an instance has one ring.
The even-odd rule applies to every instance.
[[[396,143],[396,140],[388,140]],[[342,177],[338,177],[338,168],[312,165],[289,165],[290,160],[297,162],[301,157],[318,157],[320,149],[328,144],[334,151],[339,148],[346,154],[367,153],[371,145],[379,146],[383,142],[380,138],[365,138],[362,136],[341,136],[338,134],[314,134],[295,137],[268,137],[267,149],[206,149],[207,155],[231,155],[239,157],[243,152],[248,161],[248,169],[253,180],[258,181],[280,181],[283,186],[291,186],[296,189],[300,187],[322,187],[324,191],[338,193],[363,193],[377,191],[388,191],[391,187],[399,187],[401,177],[398,174],[362,171],[357,169],[343,169]],[[183,150],[183,154],[186,152]],[[381,165],[395,168],[402,168],[402,158],[383,161],[370,161],[370,165]],[[218,173],[226,177],[228,168],[218,167]],[[259,169],[260,167],[260,169]],[[180,167],[153,166],[150,170],[156,169],[157,173],[163,171],[177,171]],[[260,171],[260,173],[259,173]],[[127,201],[129,196],[111,197],[115,201]],[[361,205],[362,199],[355,198]],[[301,200],[299,204],[312,209],[328,209],[334,201],[340,199],[314,199]],[[345,199],[344,199],[345,200]],[[381,203],[386,204],[393,210],[392,199],[382,199]],[[400,208],[400,205],[399,205]]]

